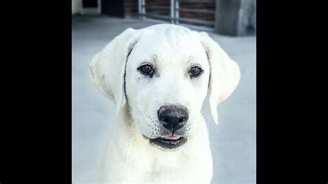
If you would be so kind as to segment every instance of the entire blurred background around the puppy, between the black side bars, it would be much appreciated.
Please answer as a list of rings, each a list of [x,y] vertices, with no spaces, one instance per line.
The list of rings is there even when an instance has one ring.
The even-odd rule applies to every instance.
[[[256,183],[255,0],[72,0],[73,183],[95,181],[113,121],[114,105],[89,77],[93,55],[126,28],[179,24],[206,31],[239,64],[241,80],[219,104],[220,124],[208,122],[212,183]]]

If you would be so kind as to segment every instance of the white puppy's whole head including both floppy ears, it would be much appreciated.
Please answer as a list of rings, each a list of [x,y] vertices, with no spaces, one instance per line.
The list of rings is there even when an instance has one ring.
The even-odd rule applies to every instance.
[[[128,28],[89,65],[98,89],[131,118],[152,145],[176,149],[192,137],[209,91],[215,123],[217,104],[239,82],[239,67],[206,33],[158,24]]]

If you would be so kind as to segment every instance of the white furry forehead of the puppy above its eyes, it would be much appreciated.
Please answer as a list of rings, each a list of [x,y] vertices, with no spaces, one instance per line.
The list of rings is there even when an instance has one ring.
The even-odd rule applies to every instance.
[[[140,30],[131,53],[138,62],[159,60],[165,64],[206,62],[199,33],[182,26],[160,24]]]

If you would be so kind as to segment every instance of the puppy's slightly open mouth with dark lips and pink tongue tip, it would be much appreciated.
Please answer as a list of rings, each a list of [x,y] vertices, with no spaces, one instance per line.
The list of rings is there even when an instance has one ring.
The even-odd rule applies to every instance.
[[[187,142],[187,138],[183,136],[163,136],[159,138],[149,138],[150,144],[156,145],[163,149],[176,149]]]

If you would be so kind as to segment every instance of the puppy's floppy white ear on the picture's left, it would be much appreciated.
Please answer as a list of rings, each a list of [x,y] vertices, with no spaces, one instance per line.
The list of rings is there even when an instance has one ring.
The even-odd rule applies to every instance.
[[[125,104],[125,65],[127,57],[137,42],[137,30],[128,28],[115,37],[96,54],[89,64],[89,71],[95,86],[116,105],[116,116]]]

